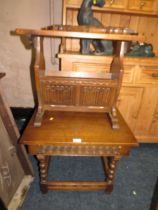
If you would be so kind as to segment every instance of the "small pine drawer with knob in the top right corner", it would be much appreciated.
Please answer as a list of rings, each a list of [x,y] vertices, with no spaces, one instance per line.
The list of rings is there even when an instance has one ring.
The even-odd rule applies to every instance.
[[[139,10],[144,12],[153,12],[156,0],[130,0],[128,1],[128,9]]]

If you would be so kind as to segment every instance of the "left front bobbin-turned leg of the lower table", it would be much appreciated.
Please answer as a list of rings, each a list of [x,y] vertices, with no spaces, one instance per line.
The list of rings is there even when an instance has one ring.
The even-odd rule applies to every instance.
[[[40,171],[40,189],[42,193],[47,193],[47,177],[48,177],[48,160],[49,157],[45,155],[37,155],[39,160],[39,171]]]

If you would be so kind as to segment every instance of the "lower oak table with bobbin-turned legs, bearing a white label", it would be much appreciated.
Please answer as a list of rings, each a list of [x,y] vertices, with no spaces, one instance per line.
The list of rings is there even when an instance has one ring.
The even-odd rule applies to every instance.
[[[112,129],[105,113],[49,112],[43,116],[41,127],[28,124],[21,144],[36,155],[40,167],[41,191],[48,190],[107,190],[113,189],[116,163],[129,154],[138,143],[127,124],[118,115],[120,129]],[[50,156],[99,156],[104,160],[106,181],[65,182],[48,181]]]

